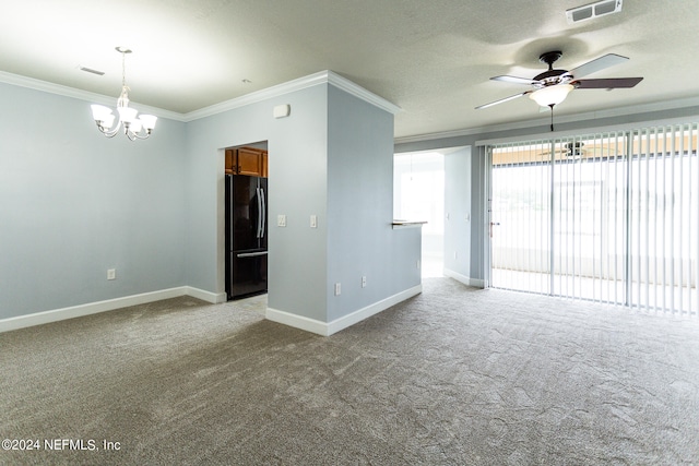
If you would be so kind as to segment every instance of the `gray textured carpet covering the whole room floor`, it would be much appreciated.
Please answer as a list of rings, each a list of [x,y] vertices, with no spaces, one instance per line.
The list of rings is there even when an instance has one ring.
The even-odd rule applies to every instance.
[[[331,337],[188,297],[19,330],[0,371],[39,441],[0,464],[699,464],[697,320],[448,278]]]

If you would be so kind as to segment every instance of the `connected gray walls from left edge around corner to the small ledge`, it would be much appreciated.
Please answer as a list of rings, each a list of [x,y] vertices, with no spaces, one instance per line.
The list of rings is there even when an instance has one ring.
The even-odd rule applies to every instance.
[[[99,134],[81,99],[8,84],[0,99],[0,319],[182,286],[223,298],[224,148],[260,141],[271,308],[329,322],[419,284],[419,232],[390,225],[393,116],[330,84],[161,118],[137,142]]]

